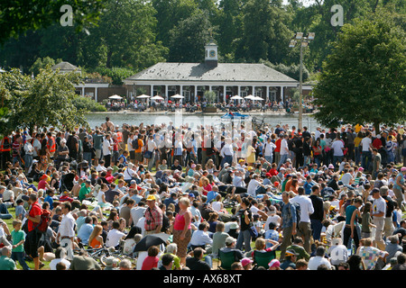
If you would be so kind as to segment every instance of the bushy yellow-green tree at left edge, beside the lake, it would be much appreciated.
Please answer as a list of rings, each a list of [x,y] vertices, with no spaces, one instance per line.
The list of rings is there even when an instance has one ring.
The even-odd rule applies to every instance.
[[[88,126],[84,116],[87,111],[73,103],[79,97],[75,94],[75,85],[81,81],[78,73],[62,74],[47,66],[32,78],[13,69],[2,73],[0,80],[1,133],[24,127],[32,130],[35,126]]]

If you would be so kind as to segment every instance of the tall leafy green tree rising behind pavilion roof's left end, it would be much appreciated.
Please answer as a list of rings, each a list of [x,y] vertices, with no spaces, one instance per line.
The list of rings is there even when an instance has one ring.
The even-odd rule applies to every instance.
[[[89,37],[106,47],[106,67],[139,71],[164,60],[167,49],[155,40],[156,11],[150,2],[108,0],[106,5],[106,12]]]

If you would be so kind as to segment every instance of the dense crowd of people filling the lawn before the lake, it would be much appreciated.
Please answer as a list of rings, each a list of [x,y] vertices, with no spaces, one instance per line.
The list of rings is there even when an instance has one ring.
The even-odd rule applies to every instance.
[[[403,126],[247,127],[5,136],[0,269],[405,269]]]

